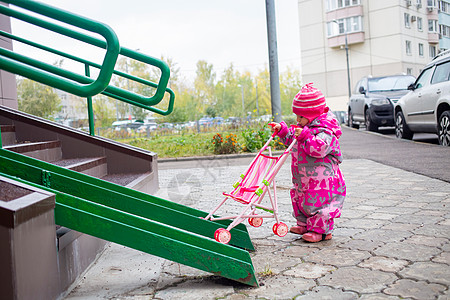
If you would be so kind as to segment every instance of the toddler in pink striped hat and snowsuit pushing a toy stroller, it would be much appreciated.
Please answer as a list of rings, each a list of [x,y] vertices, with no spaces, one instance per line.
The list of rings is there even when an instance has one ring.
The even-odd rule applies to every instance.
[[[339,169],[341,127],[312,83],[294,97],[292,111],[297,115],[296,128],[288,128],[285,122],[273,123],[285,145],[297,139],[291,151],[294,186],[290,191],[297,225],[290,231],[308,242],[329,240],[346,195]]]

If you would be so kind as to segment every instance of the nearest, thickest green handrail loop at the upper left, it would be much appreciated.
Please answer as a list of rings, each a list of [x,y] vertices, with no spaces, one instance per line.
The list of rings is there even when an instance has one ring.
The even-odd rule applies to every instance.
[[[11,73],[19,74],[35,81],[50,85],[52,87],[67,91],[69,93],[87,97],[93,96],[103,91],[109,84],[117,57],[120,52],[120,45],[118,38],[114,31],[107,25],[75,15],[73,13],[54,8],[52,6],[31,1],[31,0],[6,0],[3,1],[12,5],[21,7],[23,9],[32,11],[34,13],[50,17],[52,19],[61,21],[72,26],[82,28],[89,32],[97,33],[103,36],[106,40],[106,53],[103,60],[102,68],[95,81],[89,81],[89,84],[79,84],[73,80],[68,80],[65,77],[55,75],[55,73],[45,72],[41,69],[34,68],[26,63],[17,62],[11,57],[14,55],[13,51],[2,49],[0,56],[0,68]],[[92,39],[86,35],[79,33],[73,29],[57,25],[46,20],[28,15],[24,12],[14,10],[10,7],[0,5],[0,13],[20,19],[22,21],[49,29],[51,31],[63,34],[68,37],[75,38],[82,42],[96,45]],[[96,45],[97,46],[97,45]],[[33,61],[33,59],[29,59]]]

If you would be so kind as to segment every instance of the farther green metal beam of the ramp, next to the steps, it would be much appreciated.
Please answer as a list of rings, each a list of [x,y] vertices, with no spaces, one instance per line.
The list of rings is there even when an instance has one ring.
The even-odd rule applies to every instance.
[[[206,212],[5,149],[0,149],[0,172],[208,238],[213,238],[218,228],[229,224],[229,221],[219,223],[203,220],[201,217],[205,217]],[[242,228],[245,228],[243,224],[231,231],[230,245],[254,250],[248,232]]]

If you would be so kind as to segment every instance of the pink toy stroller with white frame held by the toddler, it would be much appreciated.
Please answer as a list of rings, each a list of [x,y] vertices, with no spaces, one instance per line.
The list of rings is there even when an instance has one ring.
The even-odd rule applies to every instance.
[[[269,124],[272,125],[272,124]],[[276,136],[274,132],[266,144],[259,150],[256,157],[253,159],[250,166],[245,173],[241,174],[241,178],[233,184],[233,190],[230,193],[223,193],[225,199],[222,200],[209,214],[206,220],[233,220],[230,225],[225,228],[219,228],[214,233],[214,238],[220,243],[227,244],[231,239],[230,230],[242,223],[245,219],[253,227],[262,225],[263,218],[275,218],[276,223],[273,225],[274,234],[283,237],[288,232],[286,224],[280,222],[278,217],[277,205],[277,191],[275,185],[275,176],[280,170],[290,150],[294,146],[296,140],[289,145],[289,147],[279,157],[272,156],[270,142]],[[263,154],[263,151],[269,150],[269,155]],[[272,189],[272,191],[271,191]],[[271,193],[272,192],[272,193]],[[261,204],[265,194],[269,194],[270,206]],[[272,195],[273,194],[273,195]],[[228,199],[235,200],[244,204],[244,209],[238,215],[214,217],[213,214],[223,205]],[[265,214],[257,214],[257,210],[263,210]]]

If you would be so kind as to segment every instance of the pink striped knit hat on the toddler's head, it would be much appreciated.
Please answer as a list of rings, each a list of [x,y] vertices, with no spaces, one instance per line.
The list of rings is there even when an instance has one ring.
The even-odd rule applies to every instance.
[[[314,120],[325,112],[325,97],[322,92],[307,83],[300,92],[294,97],[292,102],[292,111],[294,114]]]

